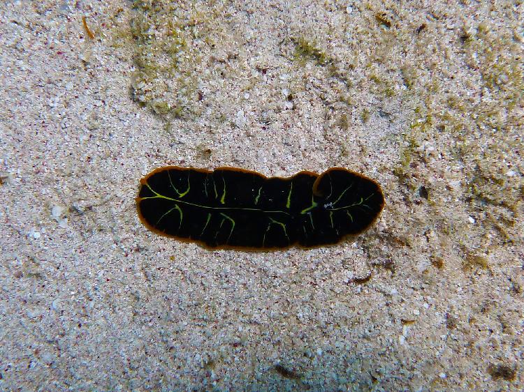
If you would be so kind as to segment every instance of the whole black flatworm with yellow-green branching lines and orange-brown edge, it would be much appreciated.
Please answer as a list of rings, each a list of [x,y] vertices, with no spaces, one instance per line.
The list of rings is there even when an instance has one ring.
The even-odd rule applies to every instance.
[[[161,167],[140,180],[144,225],[206,248],[314,248],[363,232],[384,208],[372,179],[334,167],[265,177],[233,167]]]

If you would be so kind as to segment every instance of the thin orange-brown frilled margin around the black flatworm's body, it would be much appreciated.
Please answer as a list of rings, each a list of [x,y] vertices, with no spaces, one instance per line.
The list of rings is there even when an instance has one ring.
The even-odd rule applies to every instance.
[[[295,174],[293,176],[289,176],[289,177],[278,177],[278,176],[268,177],[268,176],[264,176],[263,174],[260,174],[259,172],[254,172],[253,170],[247,170],[247,169],[240,169],[238,167],[223,166],[223,167],[217,167],[214,170],[208,170],[208,169],[198,169],[198,168],[195,168],[195,167],[164,166],[164,167],[157,167],[157,169],[154,169],[152,172],[147,174],[147,176],[142,177],[142,179],[140,179],[140,184],[144,185],[145,183],[147,183],[147,179],[150,176],[152,176],[153,174],[156,174],[158,172],[164,172],[164,171],[169,170],[169,169],[194,170],[196,172],[201,172],[201,173],[205,173],[205,174],[211,174],[212,172],[214,172],[214,170],[226,169],[226,170],[230,170],[230,171],[233,171],[233,172],[242,172],[242,173],[247,173],[247,174],[255,174],[257,176],[263,177],[264,179],[277,178],[277,179],[283,179],[283,180],[291,180],[291,179],[293,179],[293,177],[298,176],[299,174],[310,174],[310,175],[316,176],[316,180],[315,180],[315,182],[313,184],[313,193],[316,194],[316,195],[318,195],[318,193],[316,193],[316,186],[317,186],[317,183],[318,183],[318,181],[319,181],[319,179],[321,177],[320,174],[315,173],[315,172],[310,172],[308,170],[303,170],[302,172],[298,172],[297,174]],[[361,177],[363,179],[366,179],[367,181],[372,181],[373,183],[377,184],[377,186],[380,189],[379,183],[377,183],[377,181],[374,181],[374,180],[372,180],[372,179],[370,179],[370,178],[368,178],[366,176],[363,176],[360,173],[353,172],[353,171],[348,170],[348,169],[344,169],[343,167],[330,167],[328,170],[326,170],[326,172],[323,172],[323,174],[326,174],[326,173],[330,172],[330,170],[335,170],[335,169],[337,169],[337,170],[345,170],[346,172],[354,174],[355,176],[359,176],[359,177]],[[140,190],[138,190],[138,191],[140,192]],[[345,242],[345,241],[347,241],[349,239],[354,239],[359,234],[365,232],[367,229],[369,229],[377,221],[377,218],[380,215],[380,213],[378,213],[377,216],[374,218],[374,220],[372,220],[370,222],[370,224],[367,225],[366,227],[364,227],[360,232],[358,232],[356,234],[348,234],[347,236],[343,236],[340,239],[340,241],[337,241],[336,243],[326,244],[326,245],[306,247],[306,246],[300,246],[300,244],[298,244],[298,243],[290,243],[289,246],[286,246],[285,248],[249,248],[249,247],[245,247],[245,246],[231,246],[231,245],[211,247],[211,246],[206,245],[205,242],[203,242],[203,241],[199,241],[197,239],[187,239],[187,238],[181,238],[181,237],[173,236],[173,235],[161,232],[159,229],[156,229],[156,228],[152,227],[149,223],[147,223],[145,221],[144,217],[142,216],[142,213],[140,212],[140,208],[139,208],[139,204],[138,204],[138,202],[140,202],[140,197],[136,197],[135,201],[136,201],[136,209],[137,209],[137,212],[138,212],[138,218],[140,218],[140,221],[143,223],[143,225],[145,227],[147,227],[147,229],[149,229],[151,232],[154,232],[155,234],[159,234],[160,236],[165,236],[165,237],[168,237],[168,238],[171,238],[171,239],[176,239],[177,241],[184,242],[184,243],[196,243],[198,246],[201,246],[201,248],[204,248],[206,250],[240,250],[242,252],[275,252],[277,250],[288,250],[289,248],[299,248],[299,249],[310,250],[310,249],[314,249],[314,248],[323,248],[323,247],[328,247],[328,246],[335,246],[335,245],[337,245],[339,243],[342,243],[342,242]],[[384,209],[384,204],[382,204],[380,206],[380,211],[382,211],[382,209]]]

